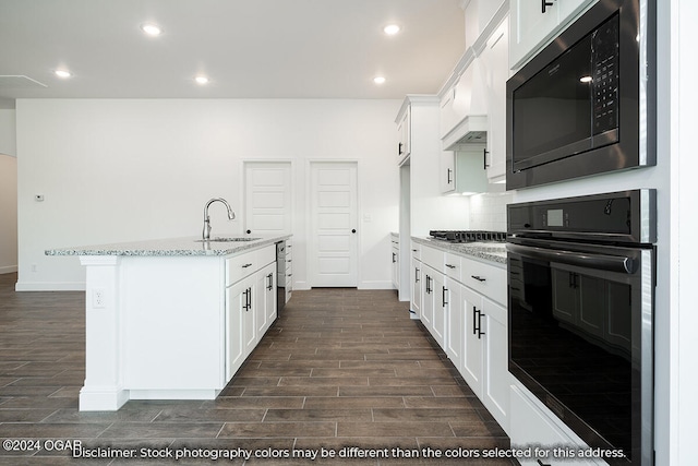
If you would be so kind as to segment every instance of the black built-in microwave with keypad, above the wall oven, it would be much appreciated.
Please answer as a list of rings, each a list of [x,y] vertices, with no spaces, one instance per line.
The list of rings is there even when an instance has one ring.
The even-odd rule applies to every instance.
[[[653,0],[600,0],[507,81],[507,189],[651,166]]]

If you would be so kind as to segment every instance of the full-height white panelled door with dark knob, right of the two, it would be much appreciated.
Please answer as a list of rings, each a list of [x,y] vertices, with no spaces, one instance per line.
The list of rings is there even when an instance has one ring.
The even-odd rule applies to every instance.
[[[312,287],[356,287],[357,164],[312,163],[310,258]]]

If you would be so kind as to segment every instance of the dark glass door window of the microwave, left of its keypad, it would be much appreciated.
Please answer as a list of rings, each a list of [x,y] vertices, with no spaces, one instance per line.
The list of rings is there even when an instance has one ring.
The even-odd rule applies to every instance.
[[[589,151],[592,101],[587,36],[514,91],[514,170]]]

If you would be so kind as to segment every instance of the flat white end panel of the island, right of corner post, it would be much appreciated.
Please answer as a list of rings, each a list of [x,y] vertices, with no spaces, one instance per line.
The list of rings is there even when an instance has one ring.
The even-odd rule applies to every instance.
[[[124,256],[124,387],[131,399],[214,399],[225,380],[225,259]]]

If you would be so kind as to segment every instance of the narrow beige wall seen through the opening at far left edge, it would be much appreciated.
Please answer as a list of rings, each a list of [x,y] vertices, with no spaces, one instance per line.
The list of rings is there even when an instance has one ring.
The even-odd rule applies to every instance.
[[[17,160],[0,154],[0,274],[17,271]]]

